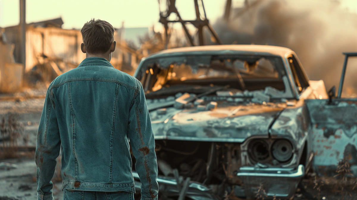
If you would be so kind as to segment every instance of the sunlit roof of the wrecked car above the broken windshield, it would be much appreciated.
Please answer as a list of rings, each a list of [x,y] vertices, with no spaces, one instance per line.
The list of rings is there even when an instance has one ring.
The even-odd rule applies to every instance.
[[[223,52],[222,52],[223,51]],[[146,58],[155,58],[169,55],[187,55],[188,52],[195,54],[225,53],[225,51],[239,51],[235,53],[263,53],[284,57],[286,53],[292,52],[290,48],[271,45],[207,45],[180,47],[162,50]],[[227,52],[228,53],[228,52]]]

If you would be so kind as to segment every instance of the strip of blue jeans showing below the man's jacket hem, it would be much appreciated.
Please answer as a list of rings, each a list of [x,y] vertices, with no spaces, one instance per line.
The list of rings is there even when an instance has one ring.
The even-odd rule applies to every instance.
[[[100,192],[65,189],[63,200],[134,200],[134,193],[126,191]]]

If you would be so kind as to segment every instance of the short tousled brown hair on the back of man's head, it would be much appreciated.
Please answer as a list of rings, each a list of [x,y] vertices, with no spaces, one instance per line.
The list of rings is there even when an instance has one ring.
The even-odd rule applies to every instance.
[[[81,29],[81,34],[89,54],[105,53],[114,42],[114,27],[100,19],[87,21]]]

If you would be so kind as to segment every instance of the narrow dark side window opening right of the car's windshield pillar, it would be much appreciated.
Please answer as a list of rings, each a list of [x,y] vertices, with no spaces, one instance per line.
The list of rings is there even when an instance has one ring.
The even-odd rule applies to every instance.
[[[292,76],[295,81],[295,86],[299,93],[301,93],[306,87],[309,86],[308,81],[306,80],[303,72],[301,70],[301,66],[297,62],[296,58],[293,55],[288,57],[290,69],[292,72]]]

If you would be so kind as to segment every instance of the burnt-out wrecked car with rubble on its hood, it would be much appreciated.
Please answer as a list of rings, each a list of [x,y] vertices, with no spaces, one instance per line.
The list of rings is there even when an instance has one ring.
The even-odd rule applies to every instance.
[[[295,195],[313,156],[305,100],[328,98],[295,52],[268,45],[175,48],[144,58],[134,76],[154,130],[160,198]]]

